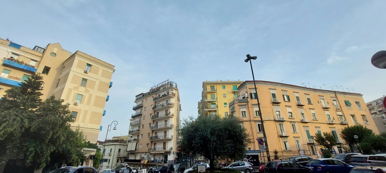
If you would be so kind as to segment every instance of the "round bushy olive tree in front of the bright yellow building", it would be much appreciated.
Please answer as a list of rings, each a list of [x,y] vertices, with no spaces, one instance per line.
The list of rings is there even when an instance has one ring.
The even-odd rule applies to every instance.
[[[235,116],[220,118],[219,115],[190,117],[179,129],[179,145],[184,153],[202,155],[210,161],[234,160],[245,155],[246,147],[252,142],[250,134],[240,125]]]

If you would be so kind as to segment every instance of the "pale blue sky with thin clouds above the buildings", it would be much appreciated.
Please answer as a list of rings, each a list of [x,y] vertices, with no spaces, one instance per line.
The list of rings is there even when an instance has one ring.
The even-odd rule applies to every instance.
[[[181,118],[197,115],[205,80],[256,80],[386,95],[386,1],[13,0],[2,2],[0,37],[33,48],[60,43],[115,65],[102,118],[127,135],[135,95],[178,83]],[[302,85],[302,83],[305,83]]]

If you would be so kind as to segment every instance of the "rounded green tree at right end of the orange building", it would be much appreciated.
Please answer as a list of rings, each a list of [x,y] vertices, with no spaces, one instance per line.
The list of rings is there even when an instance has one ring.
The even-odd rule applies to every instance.
[[[364,140],[364,138],[366,138],[367,136],[374,136],[374,133],[370,129],[362,125],[345,127],[340,132],[340,137],[345,140],[347,144],[349,144],[351,150],[352,145],[357,144],[357,140],[354,138],[354,135],[358,136],[358,141],[359,143],[361,143],[362,140]]]

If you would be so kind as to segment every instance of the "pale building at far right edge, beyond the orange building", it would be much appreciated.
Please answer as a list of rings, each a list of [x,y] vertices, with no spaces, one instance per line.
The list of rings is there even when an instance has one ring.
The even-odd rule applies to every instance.
[[[386,109],[383,105],[383,97],[366,103],[379,133],[386,132]]]

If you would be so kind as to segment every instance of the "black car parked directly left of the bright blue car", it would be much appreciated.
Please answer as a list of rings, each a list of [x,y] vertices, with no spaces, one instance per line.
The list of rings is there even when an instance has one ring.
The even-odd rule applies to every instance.
[[[312,169],[291,160],[269,161],[264,166],[264,173],[312,173]]]

